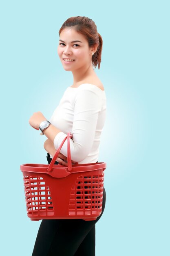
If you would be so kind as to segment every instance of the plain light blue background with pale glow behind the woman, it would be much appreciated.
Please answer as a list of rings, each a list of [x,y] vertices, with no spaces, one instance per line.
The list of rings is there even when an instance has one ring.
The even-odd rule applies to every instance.
[[[57,56],[58,31],[67,18],[88,16],[104,41],[96,73],[107,96],[99,155],[107,198],[96,256],[170,255],[168,1],[4,2],[0,254],[31,256],[40,222],[26,215],[20,164],[47,161],[46,137],[28,121],[37,111],[49,119],[72,85]]]

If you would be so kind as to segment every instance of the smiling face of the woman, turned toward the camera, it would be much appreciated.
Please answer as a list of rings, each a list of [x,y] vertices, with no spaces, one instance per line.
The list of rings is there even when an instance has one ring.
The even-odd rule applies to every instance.
[[[91,65],[92,49],[86,38],[73,28],[65,28],[60,33],[57,49],[66,71],[75,71]]]

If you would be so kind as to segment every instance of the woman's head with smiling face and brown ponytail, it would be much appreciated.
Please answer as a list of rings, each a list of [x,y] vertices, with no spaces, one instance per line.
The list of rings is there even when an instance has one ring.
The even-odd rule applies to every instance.
[[[62,63],[66,63],[65,59],[71,59],[80,66],[84,63],[92,63],[93,67],[98,64],[100,68],[103,41],[93,20],[81,16],[77,16],[75,20],[75,17],[71,17],[64,22],[59,34],[59,42],[62,43],[58,46],[58,55],[61,61],[64,60]],[[68,68],[66,67],[67,70]]]

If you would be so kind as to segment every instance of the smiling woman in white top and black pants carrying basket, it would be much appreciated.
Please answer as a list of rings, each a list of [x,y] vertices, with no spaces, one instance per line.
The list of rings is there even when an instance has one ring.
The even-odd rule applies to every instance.
[[[72,163],[96,163],[99,157],[100,136],[106,119],[106,94],[94,70],[97,65],[98,69],[100,68],[102,37],[97,32],[95,22],[82,16],[68,18],[60,28],[59,36],[57,53],[64,70],[72,72],[73,85],[65,90],[60,104],[48,121],[50,125],[48,123],[43,130],[47,137],[44,143],[48,152],[47,160],[48,163],[51,162],[67,133],[71,132]],[[41,112],[35,113],[30,119],[30,124],[38,128],[40,121],[45,121],[44,119]],[[66,165],[66,160],[67,141],[64,142],[55,164],[60,162]],[[81,186],[78,187],[81,190]],[[96,198],[92,195],[91,188],[89,184],[88,195],[85,195],[89,205],[91,201],[93,203],[93,198]],[[105,208],[104,187],[100,188],[100,193],[103,200],[102,213],[96,220],[43,219],[32,256],[95,256],[95,224],[102,217]],[[87,205],[82,207],[85,209]],[[89,207],[87,215],[94,211],[94,206]]]

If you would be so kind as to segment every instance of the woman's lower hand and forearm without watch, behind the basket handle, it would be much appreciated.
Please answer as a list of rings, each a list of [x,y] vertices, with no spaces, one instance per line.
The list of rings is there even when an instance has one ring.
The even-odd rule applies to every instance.
[[[57,152],[57,149],[55,149],[54,144],[51,142],[50,139],[46,139],[46,141],[44,142],[44,148],[52,156],[54,156],[55,153]],[[63,165],[68,166],[67,162],[65,162],[67,161],[67,157],[60,152],[58,154],[58,157],[55,160]],[[72,164],[75,164],[75,161],[71,160],[71,162]]]

